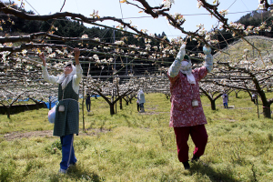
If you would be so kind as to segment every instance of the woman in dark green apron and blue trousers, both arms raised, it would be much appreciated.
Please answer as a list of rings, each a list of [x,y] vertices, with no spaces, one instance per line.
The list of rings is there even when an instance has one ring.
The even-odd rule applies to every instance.
[[[58,85],[58,104],[56,106],[56,118],[54,123],[54,136],[60,136],[62,144],[62,161],[59,173],[66,174],[69,166],[76,165],[76,157],[73,147],[74,134],[79,131],[79,105],[78,92],[82,79],[82,67],[79,64],[80,50],[74,49],[76,66],[73,62],[67,62],[64,73],[61,76],[49,76],[46,68],[44,53],[39,57],[43,61],[43,78],[46,82]]]

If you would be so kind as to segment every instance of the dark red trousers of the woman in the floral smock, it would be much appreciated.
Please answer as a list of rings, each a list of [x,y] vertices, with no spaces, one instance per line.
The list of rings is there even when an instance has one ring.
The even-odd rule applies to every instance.
[[[201,157],[204,154],[207,145],[207,130],[204,125],[174,127],[174,130],[177,138],[177,153],[180,162],[188,160],[187,140],[189,135],[196,146],[193,154],[197,157]]]

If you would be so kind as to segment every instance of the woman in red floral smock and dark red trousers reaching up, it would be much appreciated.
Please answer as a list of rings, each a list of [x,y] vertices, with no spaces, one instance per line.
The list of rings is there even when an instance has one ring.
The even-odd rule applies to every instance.
[[[209,46],[203,47],[205,66],[192,69],[192,64],[185,51],[186,45],[181,45],[173,64],[169,67],[167,76],[170,81],[171,111],[169,126],[174,127],[177,140],[177,154],[185,169],[188,163],[188,136],[191,136],[195,150],[191,162],[201,157],[207,145],[207,119],[199,96],[198,82],[213,69],[213,57]]]

